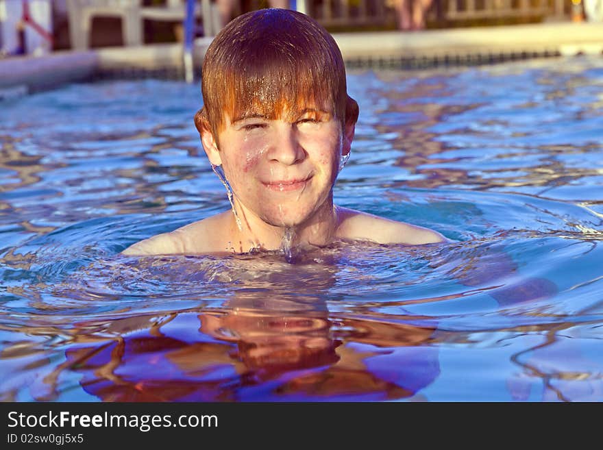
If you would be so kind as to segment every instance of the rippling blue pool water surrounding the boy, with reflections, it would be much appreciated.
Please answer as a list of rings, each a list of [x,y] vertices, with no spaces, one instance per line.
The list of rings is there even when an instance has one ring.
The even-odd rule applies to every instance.
[[[336,203],[450,243],[125,257],[229,208],[198,84],[0,103],[0,399],[603,401],[603,59],[348,78]]]

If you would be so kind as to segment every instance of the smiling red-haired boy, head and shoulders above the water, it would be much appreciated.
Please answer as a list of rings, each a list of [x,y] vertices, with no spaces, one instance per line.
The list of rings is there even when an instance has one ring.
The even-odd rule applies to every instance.
[[[333,204],[358,104],[339,47],[312,18],[267,9],[235,18],[202,68],[195,125],[232,210],[137,242],[126,255],[247,253],[336,241],[419,245],[445,240],[408,223]]]

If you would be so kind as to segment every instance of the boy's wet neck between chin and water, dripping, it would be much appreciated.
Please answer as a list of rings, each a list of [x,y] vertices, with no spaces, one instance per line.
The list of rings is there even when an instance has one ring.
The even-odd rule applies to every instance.
[[[297,225],[271,225],[246,210],[234,199],[231,218],[232,247],[245,253],[250,249],[279,250],[291,253],[291,249],[323,247],[332,242],[337,229],[338,216],[332,197],[304,223]],[[241,224],[239,227],[238,222]]]

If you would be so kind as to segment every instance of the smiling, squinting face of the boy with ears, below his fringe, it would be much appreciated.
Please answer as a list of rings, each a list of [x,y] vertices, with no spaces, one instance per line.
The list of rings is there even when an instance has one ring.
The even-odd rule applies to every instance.
[[[332,211],[332,187],[354,125],[342,129],[328,108],[267,118],[254,111],[225,116],[219,147],[201,132],[210,162],[222,165],[246,217],[277,227],[308,223]]]

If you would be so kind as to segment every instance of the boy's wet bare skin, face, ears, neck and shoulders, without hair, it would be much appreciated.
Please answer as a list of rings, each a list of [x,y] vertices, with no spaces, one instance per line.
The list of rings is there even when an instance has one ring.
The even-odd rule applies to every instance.
[[[217,139],[202,129],[211,164],[221,166],[232,188],[233,211],[138,242],[123,253],[277,250],[284,236],[292,236],[291,245],[299,248],[335,240],[409,245],[445,240],[429,229],[334,207],[339,163],[350,151],[356,124],[342,123],[328,109],[287,111],[276,118],[254,111],[226,114]]]

